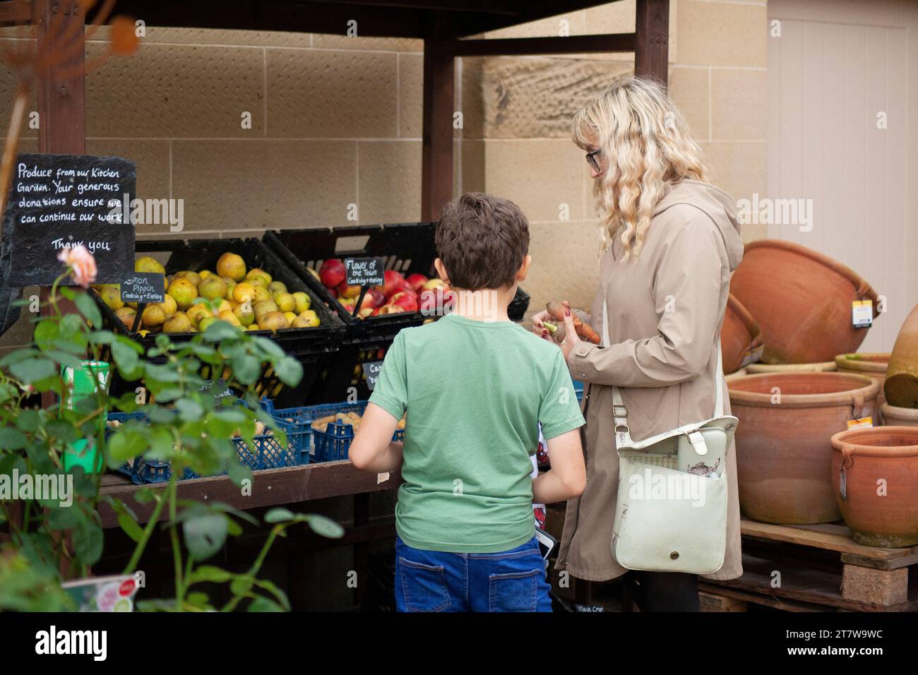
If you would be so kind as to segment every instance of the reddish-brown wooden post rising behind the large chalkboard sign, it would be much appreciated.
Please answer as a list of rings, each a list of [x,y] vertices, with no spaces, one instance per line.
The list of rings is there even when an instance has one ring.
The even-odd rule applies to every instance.
[[[55,29],[52,35],[70,35],[74,23],[84,24],[83,9],[77,0],[35,0],[35,21],[39,44],[49,32],[51,23]],[[83,154],[86,149],[86,96],[85,96],[85,47],[84,30],[73,33],[75,44],[58,45],[56,49],[67,50],[69,57],[57,64],[47,77],[40,77],[36,83],[39,99],[39,152],[54,154]],[[56,73],[64,71],[66,77]],[[50,314],[44,305],[50,295],[50,288],[42,287],[39,292],[42,316]],[[70,303],[61,301],[63,311]],[[48,408],[54,404],[54,393],[41,394],[41,405]]]

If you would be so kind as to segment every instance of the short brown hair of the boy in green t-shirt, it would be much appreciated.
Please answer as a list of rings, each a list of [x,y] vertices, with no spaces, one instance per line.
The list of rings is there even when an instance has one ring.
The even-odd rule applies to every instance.
[[[529,221],[509,199],[466,192],[443,207],[436,242],[451,286],[508,287],[529,253]]]

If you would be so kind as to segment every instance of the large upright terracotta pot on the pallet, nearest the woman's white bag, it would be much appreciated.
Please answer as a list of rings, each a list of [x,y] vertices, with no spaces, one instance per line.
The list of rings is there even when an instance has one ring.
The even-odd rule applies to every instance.
[[[740,510],[763,523],[841,517],[832,477],[834,433],[876,414],[879,384],[863,375],[775,373],[728,383],[736,428]]]

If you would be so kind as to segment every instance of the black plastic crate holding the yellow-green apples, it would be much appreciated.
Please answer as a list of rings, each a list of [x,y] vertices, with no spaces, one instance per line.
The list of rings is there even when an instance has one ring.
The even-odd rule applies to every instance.
[[[239,253],[245,260],[248,268],[261,267],[275,280],[284,282],[291,293],[303,291],[308,294],[311,305],[319,315],[319,326],[313,328],[288,328],[277,332],[253,331],[253,335],[270,338],[284,349],[286,354],[294,356],[303,364],[303,379],[297,388],[281,388],[280,381],[266,369],[259,382],[260,391],[268,397],[280,397],[291,405],[302,405],[310,399],[310,391],[320,382],[330,364],[330,356],[338,350],[341,339],[344,337],[344,324],[336,316],[320,294],[312,287],[303,283],[302,279],[286,266],[280,257],[257,239],[192,239],[192,240],[164,240],[145,241],[138,240],[135,245],[138,255],[149,254],[162,263],[166,275],[172,275],[181,270],[197,272],[202,269],[215,269],[220,255],[223,253]],[[161,253],[157,255],[156,253]],[[144,351],[154,345],[158,333],[150,332],[146,336],[140,332],[131,331],[125,327],[115,312],[108,308],[102,298],[95,291],[90,291],[95,298],[96,305],[102,312],[103,323],[109,330],[126,335],[131,340],[140,343]],[[178,332],[170,333],[173,342],[190,340],[196,333]],[[153,359],[156,361],[156,359]],[[205,370],[209,366],[202,366]],[[202,372],[208,379],[218,379],[221,373]],[[112,393],[124,393],[124,383],[113,377]]]

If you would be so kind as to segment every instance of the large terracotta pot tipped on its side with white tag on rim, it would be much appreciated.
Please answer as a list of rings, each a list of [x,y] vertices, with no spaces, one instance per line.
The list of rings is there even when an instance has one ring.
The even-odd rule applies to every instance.
[[[804,246],[778,240],[746,245],[730,292],[756,317],[762,362],[806,364],[856,352],[868,329],[851,325],[851,303],[877,293],[854,271]]]

